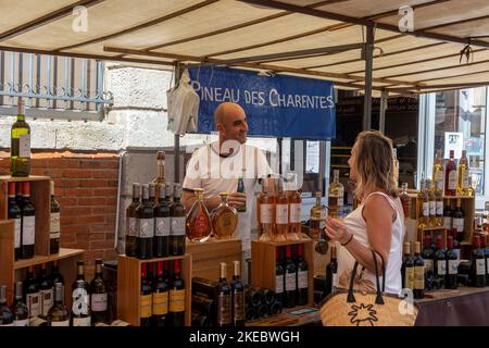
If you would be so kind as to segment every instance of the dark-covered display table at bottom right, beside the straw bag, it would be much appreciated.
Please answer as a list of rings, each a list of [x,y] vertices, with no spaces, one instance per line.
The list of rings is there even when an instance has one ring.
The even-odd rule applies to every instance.
[[[415,302],[419,309],[415,326],[489,325],[489,287],[438,290]]]

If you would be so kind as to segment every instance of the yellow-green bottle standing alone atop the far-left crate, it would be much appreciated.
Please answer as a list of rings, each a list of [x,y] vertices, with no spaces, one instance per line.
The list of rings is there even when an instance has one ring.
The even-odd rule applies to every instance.
[[[24,102],[18,98],[17,121],[11,129],[10,174],[30,175],[30,127],[25,122]]]

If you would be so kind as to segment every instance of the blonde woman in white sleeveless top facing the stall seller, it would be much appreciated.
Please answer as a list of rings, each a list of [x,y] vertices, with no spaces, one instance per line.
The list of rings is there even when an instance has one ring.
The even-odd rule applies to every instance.
[[[348,288],[355,260],[365,268],[356,279],[363,289],[375,290],[375,250],[386,266],[386,293],[402,288],[401,264],[404,215],[397,192],[392,141],[377,130],[359,134],[351,151],[350,179],[361,201],[342,222],[327,217],[326,235],[338,246],[338,287]],[[381,259],[377,257],[378,270]],[[361,269],[361,268],[359,268]]]

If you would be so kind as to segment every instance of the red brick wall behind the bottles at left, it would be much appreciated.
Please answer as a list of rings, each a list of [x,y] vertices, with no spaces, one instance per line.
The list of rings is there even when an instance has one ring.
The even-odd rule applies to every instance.
[[[0,175],[10,173],[10,153],[0,152]],[[86,278],[96,258],[113,260],[118,154],[71,151],[33,153],[32,174],[50,176],[61,206],[61,247],[84,249]]]

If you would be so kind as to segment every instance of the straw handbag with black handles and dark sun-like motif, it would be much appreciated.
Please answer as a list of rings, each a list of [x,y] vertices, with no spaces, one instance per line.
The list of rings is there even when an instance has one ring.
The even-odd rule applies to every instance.
[[[376,252],[372,251],[374,261]],[[380,257],[381,258],[381,257]],[[359,262],[355,262],[347,290],[338,290],[324,300],[319,310],[324,326],[413,326],[417,308],[409,300],[390,294],[383,294],[386,285],[386,270],[383,260],[383,287],[380,288],[377,262],[375,276],[376,293],[353,290]]]

